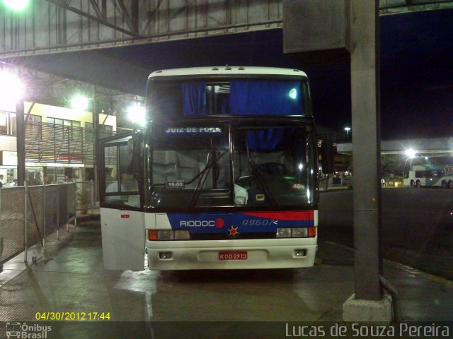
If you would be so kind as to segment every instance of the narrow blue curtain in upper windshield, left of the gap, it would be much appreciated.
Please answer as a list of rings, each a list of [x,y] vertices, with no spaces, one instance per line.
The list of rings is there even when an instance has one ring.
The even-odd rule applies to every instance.
[[[206,115],[205,90],[204,81],[183,83],[183,114],[185,117]]]

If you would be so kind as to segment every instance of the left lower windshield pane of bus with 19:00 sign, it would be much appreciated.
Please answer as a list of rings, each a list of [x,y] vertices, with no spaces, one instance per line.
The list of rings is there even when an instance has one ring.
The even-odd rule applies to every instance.
[[[217,131],[222,132],[205,136],[173,133],[161,127],[151,154],[151,205],[231,205],[229,137],[226,128]]]

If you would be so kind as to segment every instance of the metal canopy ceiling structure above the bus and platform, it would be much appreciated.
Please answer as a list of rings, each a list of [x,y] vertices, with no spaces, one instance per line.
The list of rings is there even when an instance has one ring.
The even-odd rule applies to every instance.
[[[379,6],[390,15],[453,8],[453,1]],[[0,67],[19,67],[29,100],[65,106],[69,93],[94,93],[99,109],[113,112],[143,96],[149,73],[167,65],[260,58],[275,66],[282,50],[268,42],[282,34],[283,7],[283,0],[34,0],[22,12],[0,7]]]

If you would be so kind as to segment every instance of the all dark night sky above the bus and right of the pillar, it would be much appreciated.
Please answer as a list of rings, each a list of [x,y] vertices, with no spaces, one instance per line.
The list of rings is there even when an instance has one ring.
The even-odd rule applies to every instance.
[[[450,136],[453,129],[453,10],[381,17],[382,138]],[[222,64],[299,68],[309,76],[316,121],[350,125],[348,63],[300,64],[282,53],[282,30],[161,42],[117,53],[156,69]],[[165,56],[164,58],[162,56]]]

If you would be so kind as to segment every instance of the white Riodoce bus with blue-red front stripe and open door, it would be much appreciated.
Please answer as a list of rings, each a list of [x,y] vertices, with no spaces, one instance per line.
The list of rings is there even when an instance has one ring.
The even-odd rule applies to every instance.
[[[151,73],[144,131],[100,142],[105,268],[313,266],[316,146],[302,71]]]

